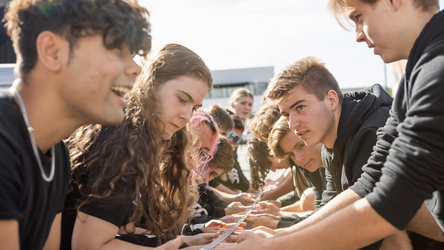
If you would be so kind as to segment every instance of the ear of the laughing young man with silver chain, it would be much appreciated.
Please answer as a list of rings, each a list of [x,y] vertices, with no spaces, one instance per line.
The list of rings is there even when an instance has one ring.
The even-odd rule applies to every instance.
[[[37,60],[48,70],[58,72],[63,66],[64,57],[69,56],[69,54],[63,55],[66,49],[69,53],[69,43],[68,48],[63,48],[66,47],[66,43],[68,43],[66,40],[51,31],[41,32],[36,40]]]

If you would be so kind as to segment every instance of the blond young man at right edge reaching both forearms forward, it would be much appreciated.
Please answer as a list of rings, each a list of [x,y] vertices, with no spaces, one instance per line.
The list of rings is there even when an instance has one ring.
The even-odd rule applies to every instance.
[[[443,241],[444,12],[438,0],[329,0],[329,6],[337,17],[353,20],[357,41],[386,63],[408,59],[391,116],[378,131],[365,172],[324,207],[329,213],[269,240],[240,236],[238,246],[290,249],[297,242],[298,249],[356,249],[406,227]],[[373,174],[378,171],[382,175]],[[368,184],[374,189],[361,198],[355,190]]]

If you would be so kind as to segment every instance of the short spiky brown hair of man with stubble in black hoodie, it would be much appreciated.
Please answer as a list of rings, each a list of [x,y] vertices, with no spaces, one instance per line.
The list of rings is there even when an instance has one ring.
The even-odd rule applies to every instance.
[[[277,101],[297,86],[301,86],[308,93],[314,94],[319,101],[324,100],[329,90],[336,91],[339,105],[342,105],[344,101],[344,95],[336,79],[325,68],[325,63],[314,56],[305,57],[294,62],[273,77],[268,87],[266,99],[275,105]]]

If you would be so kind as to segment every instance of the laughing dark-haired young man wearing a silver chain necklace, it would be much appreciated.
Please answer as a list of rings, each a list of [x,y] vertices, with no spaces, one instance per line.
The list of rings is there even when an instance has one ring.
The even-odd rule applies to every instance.
[[[62,139],[123,120],[141,71],[133,56],[151,48],[147,17],[126,0],[9,2],[17,79],[0,91],[0,249],[59,249],[71,172]]]

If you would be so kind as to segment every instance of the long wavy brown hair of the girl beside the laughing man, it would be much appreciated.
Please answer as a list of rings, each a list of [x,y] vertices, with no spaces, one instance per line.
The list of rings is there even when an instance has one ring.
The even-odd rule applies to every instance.
[[[211,89],[212,78],[204,61],[178,44],[166,44],[151,54],[142,69],[125,96],[125,119],[120,125],[83,126],[66,140],[73,169],[71,190],[81,194],[77,210],[91,203],[111,206],[134,198],[135,209],[123,224],[142,222],[139,227],[150,234],[170,238],[178,234],[198,198],[197,186],[190,181],[194,144],[185,127],[170,140],[159,139],[162,129],[155,124],[162,111],[156,108],[156,89],[186,75],[202,79]],[[125,188],[113,193],[121,182]]]

